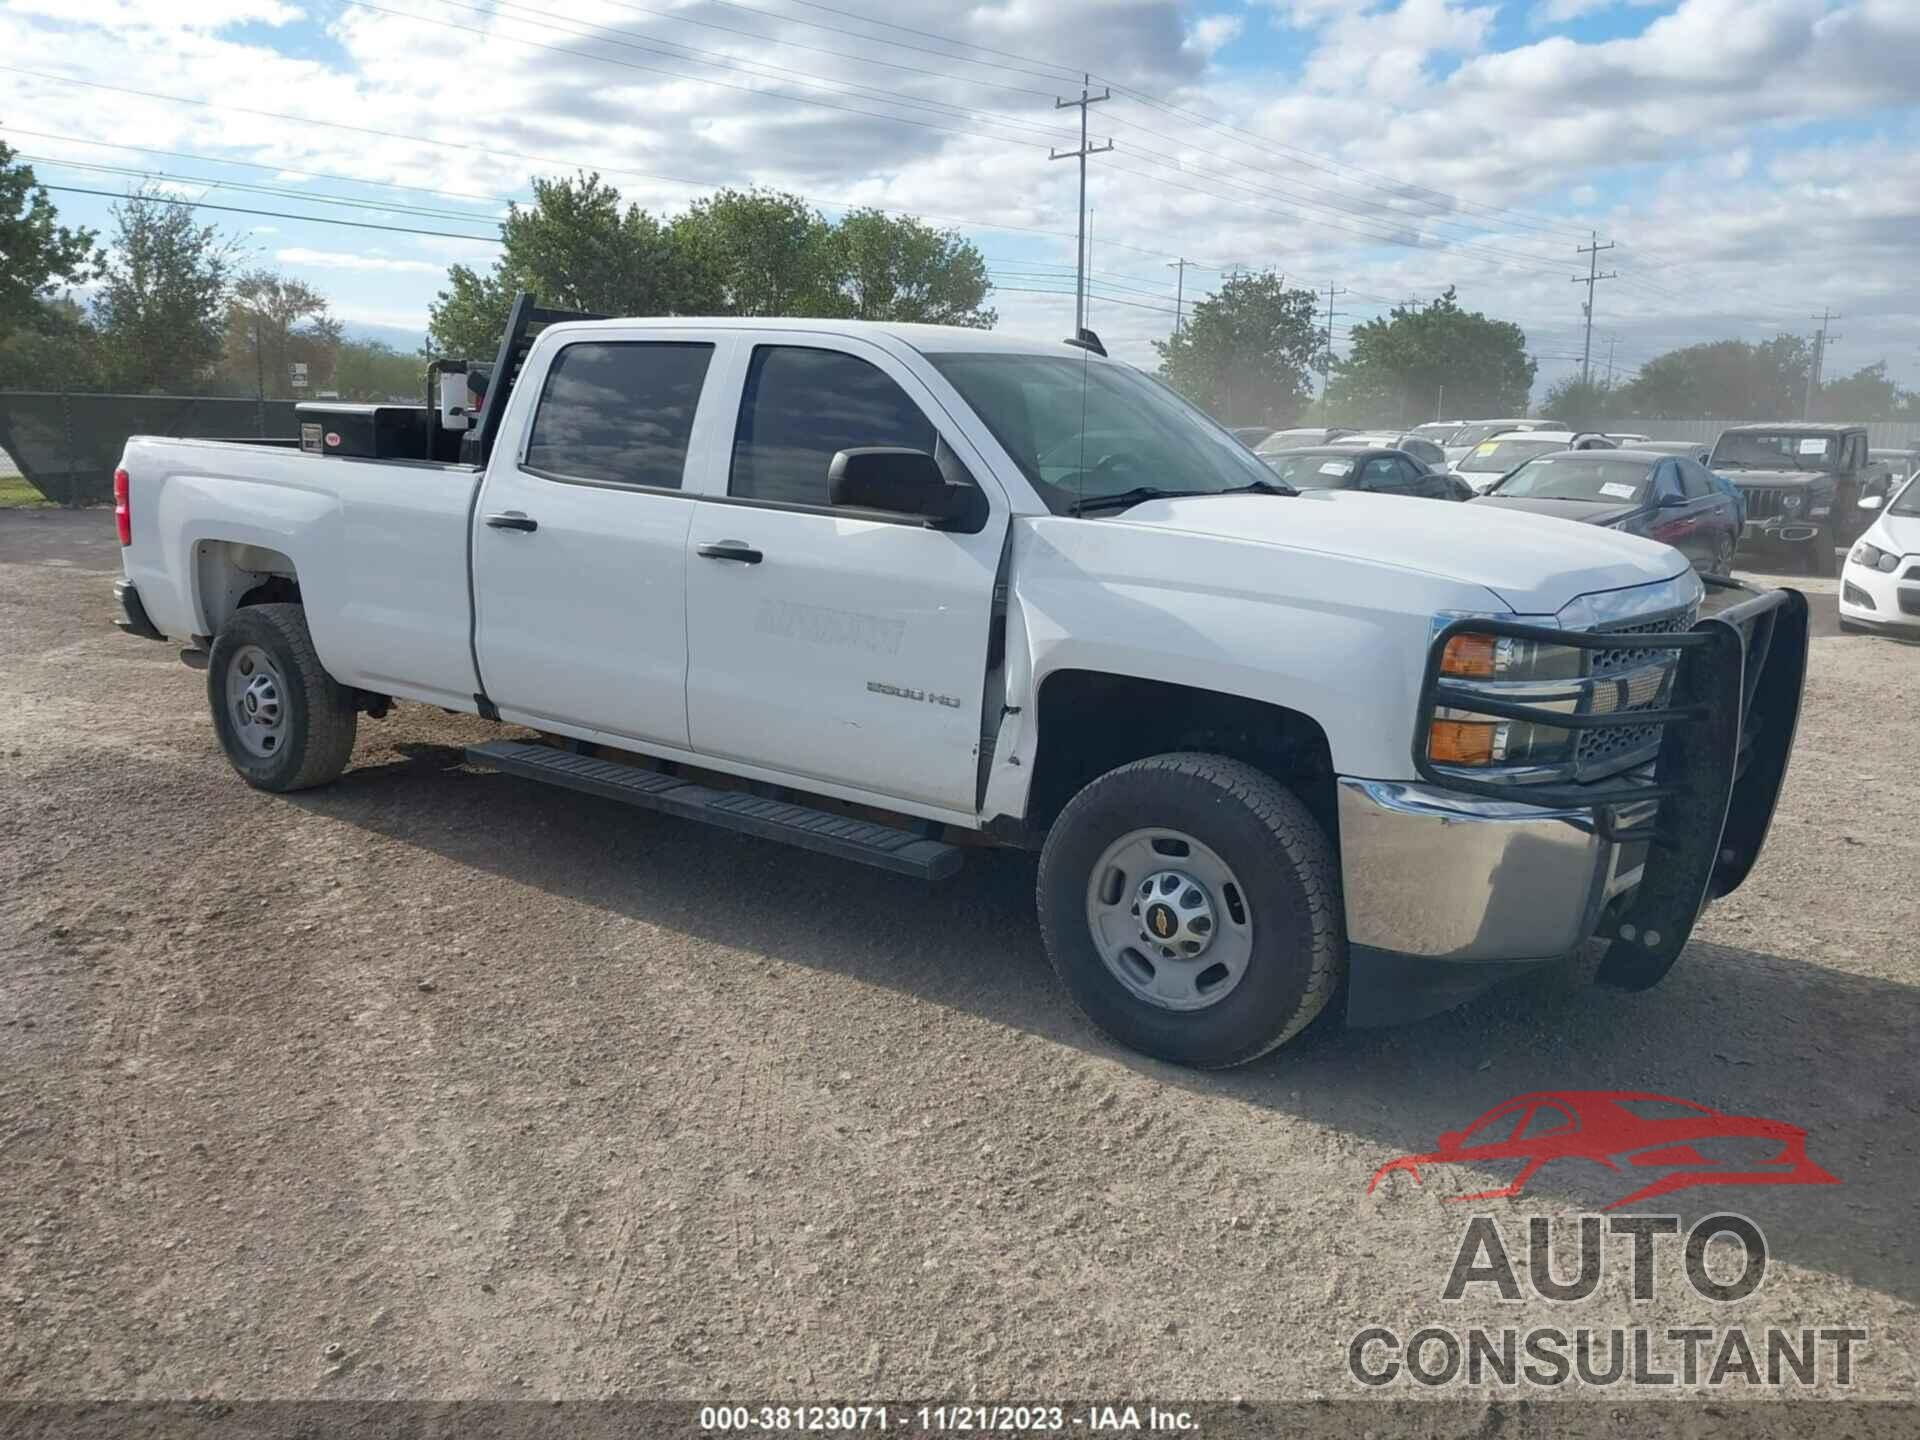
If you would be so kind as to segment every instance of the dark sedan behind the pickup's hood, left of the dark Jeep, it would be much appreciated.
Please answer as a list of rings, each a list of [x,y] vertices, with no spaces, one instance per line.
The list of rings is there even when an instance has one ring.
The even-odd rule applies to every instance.
[[[1709,574],[1732,574],[1740,543],[1740,507],[1713,484],[1713,472],[1686,455],[1649,449],[1536,455],[1473,503],[1645,536]]]

